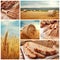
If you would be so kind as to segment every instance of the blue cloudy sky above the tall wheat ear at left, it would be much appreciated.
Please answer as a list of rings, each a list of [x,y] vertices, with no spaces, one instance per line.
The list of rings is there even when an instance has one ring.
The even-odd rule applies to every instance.
[[[9,32],[10,36],[19,37],[19,21],[1,21],[1,35],[4,36],[6,31]]]

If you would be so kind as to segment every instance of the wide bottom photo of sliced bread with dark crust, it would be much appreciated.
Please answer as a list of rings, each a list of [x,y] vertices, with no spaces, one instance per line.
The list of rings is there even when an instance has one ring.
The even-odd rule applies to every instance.
[[[26,41],[21,44],[20,51],[21,51],[20,59],[58,60],[59,41],[56,40]]]

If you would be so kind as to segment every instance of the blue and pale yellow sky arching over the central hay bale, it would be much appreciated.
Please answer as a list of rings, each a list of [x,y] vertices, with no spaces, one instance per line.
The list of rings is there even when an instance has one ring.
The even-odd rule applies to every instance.
[[[39,20],[22,20],[21,21],[21,29],[24,27],[24,26],[26,26],[26,25],[29,25],[29,24],[33,24],[35,27],[36,27],[36,29],[40,29],[40,22],[39,22]]]

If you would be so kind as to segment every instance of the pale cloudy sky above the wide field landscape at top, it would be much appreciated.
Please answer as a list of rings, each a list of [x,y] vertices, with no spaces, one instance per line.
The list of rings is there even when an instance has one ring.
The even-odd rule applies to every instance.
[[[21,8],[58,7],[59,0],[21,0]]]

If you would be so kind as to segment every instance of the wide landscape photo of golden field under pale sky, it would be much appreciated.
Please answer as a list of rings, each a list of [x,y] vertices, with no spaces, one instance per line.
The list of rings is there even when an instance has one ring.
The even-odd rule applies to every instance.
[[[21,0],[21,19],[59,19],[59,0]]]

